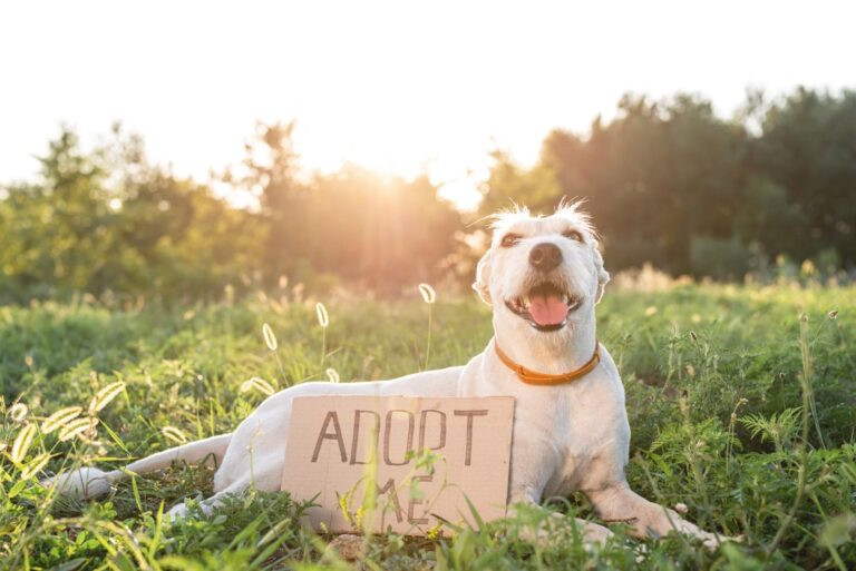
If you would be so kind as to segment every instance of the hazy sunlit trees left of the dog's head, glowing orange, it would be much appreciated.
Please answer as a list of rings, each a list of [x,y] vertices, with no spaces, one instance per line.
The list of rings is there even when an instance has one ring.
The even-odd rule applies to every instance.
[[[139,138],[118,126],[90,152],[64,129],[40,180],[0,187],[0,299],[210,299],[283,279],[398,293],[436,282],[461,226],[437,187],[353,166],[301,183],[291,131],[260,126],[240,176],[224,177],[231,193],[257,199],[239,209],[210,185],[149,165]]]

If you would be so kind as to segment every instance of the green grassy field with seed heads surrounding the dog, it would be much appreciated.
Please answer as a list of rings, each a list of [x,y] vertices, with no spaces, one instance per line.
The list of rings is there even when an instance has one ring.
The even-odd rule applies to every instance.
[[[89,504],[37,484],[62,465],[121,464],[228,432],[265,396],[265,383],[245,383],[252,377],[274,390],[327,380],[328,370],[342,382],[387,378],[426,361],[464,363],[490,336],[489,309],[475,296],[438,292],[430,342],[429,306],[416,292],[411,301],[323,299],[325,329],[315,301],[294,297],[0,307],[0,567],[856,568],[856,287],[678,285],[607,292],[600,306],[599,336],[628,393],[631,485],[685,504],[706,529],[743,536],[713,553],[679,536],[640,543],[621,533],[587,550],[570,519],[533,544],[524,530],[548,513],[535,509],[451,539],[373,536],[362,562],[348,563],[327,549],[331,538],[294,523],[301,506],[286,494],[251,491],[211,520],[164,522],[178,499],[210,493],[207,469],[175,466]],[[45,422],[71,406],[84,408],[75,420]],[[582,496],[549,510],[594,518]]]

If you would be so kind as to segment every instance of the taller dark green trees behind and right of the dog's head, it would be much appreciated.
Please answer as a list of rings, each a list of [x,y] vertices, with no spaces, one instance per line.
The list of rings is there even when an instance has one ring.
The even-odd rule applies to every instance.
[[[753,131],[757,126],[758,132]],[[731,120],[700,96],[625,96],[587,138],[555,130],[531,169],[495,154],[483,214],[585,198],[613,268],[739,279],[758,260],[856,265],[856,92],[750,93]]]

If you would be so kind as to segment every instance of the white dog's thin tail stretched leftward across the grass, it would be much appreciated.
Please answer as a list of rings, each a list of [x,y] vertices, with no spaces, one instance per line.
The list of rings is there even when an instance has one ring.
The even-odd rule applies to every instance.
[[[49,478],[41,483],[48,488],[56,488],[57,492],[61,495],[84,500],[98,498],[106,495],[110,491],[110,485],[125,480],[132,474],[148,474],[156,470],[168,467],[173,462],[198,464],[208,457],[213,457],[217,465],[220,465],[231,441],[232,434],[221,434],[220,436],[212,436],[157,452],[150,456],[132,462],[121,470],[104,472],[96,467],[81,467],[70,473]]]

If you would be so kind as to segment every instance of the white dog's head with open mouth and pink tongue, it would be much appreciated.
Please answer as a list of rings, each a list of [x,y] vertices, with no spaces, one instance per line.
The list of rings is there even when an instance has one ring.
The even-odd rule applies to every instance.
[[[593,315],[610,274],[577,204],[545,217],[526,209],[502,213],[493,229],[473,288],[494,307],[497,325],[563,334]]]

